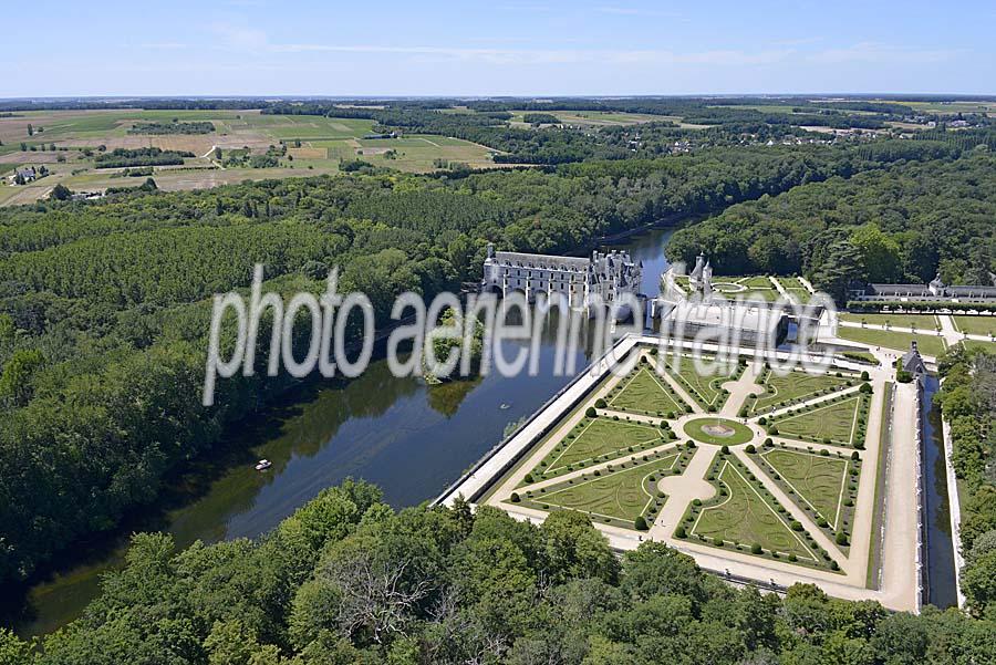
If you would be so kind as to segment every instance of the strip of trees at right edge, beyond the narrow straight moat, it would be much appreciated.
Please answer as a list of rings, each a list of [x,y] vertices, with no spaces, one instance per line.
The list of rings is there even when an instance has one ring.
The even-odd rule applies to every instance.
[[[940,368],[934,399],[951,425],[962,500],[962,591],[976,616],[996,616],[996,355],[958,345]]]

